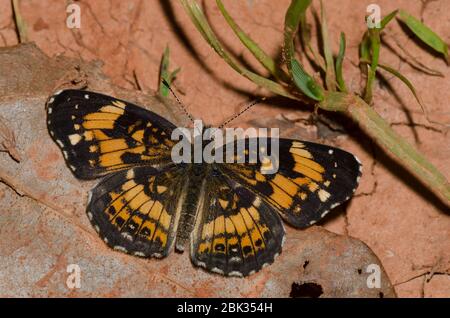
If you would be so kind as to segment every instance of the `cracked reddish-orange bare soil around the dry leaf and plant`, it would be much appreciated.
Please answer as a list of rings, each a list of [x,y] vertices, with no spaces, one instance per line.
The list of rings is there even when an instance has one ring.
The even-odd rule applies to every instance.
[[[207,16],[227,48],[249,67],[264,73],[226,27],[214,2],[205,2]],[[334,51],[338,48],[339,33],[344,31],[348,47],[345,77],[351,89],[359,90],[363,78],[357,66],[357,47],[365,29],[366,6],[372,1],[325,2]],[[253,96],[265,93],[230,69],[207,46],[177,1],[77,3],[82,10],[82,26],[79,30],[70,30],[65,26],[66,1],[21,1],[29,39],[47,55],[101,60],[103,71],[113,84],[151,92],[157,88],[159,62],[168,45],[172,65],[181,67],[175,89],[195,117],[213,125],[234,114]],[[377,3],[383,15],[396,8],[407,9],[450,42],[449,1],[380,0]],[[268,53],[279,54],[284,12],[289,1],[225,1],[225,4],[236,21]],[[18,43],[11,14],[10,1],[0,1],[0,46]],[[386,39],[390,48],[382,51],[381,60],[401,70],[414,83],[433,121],[448,125],[450,68],[441,58],[418,46],[396,22],[386,32],[391,35]],[[411,57],[439,69],[444,77],[429,76],[412,67],[408,63]],[[448,128],[428,122],[401,82],[384,74],[383,81],[376,83],[374,107],[398,133],[450,177]],[[309,116],[307,110],[298,103],[271,101],[247,112],[234,125],[263,124],[283,116],[292,119],[293,135],[334,144],[355,153],[364,164],[361,185],[349,204],[320,225],[367,244],[381,260],[398,296],[449,297],[448,207],[356,128],[349,134],[328,134],[331,136],[325,138],[327,133],[320,127],[302,124],[301,119]],[[5,196],[14,195],[7,189],[2,193],[3,200]]]

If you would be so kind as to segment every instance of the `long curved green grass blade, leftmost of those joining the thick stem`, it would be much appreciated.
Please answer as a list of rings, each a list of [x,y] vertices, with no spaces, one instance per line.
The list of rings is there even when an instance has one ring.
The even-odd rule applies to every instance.
[[[290,99],[299,99],[299,97],[289,93],[282,85],[261,75],[253,73],[252,71],[240,65],[239,62],[222,46],[219,39],[214,34],[214,31],[211,29],[211,26],[209,25],[208,20],[206,19],[197,1],[180,0],[180,2],[203,38],[208,42],[209,45],[211,45],[216,53],[219,54],[219,56],[225,62],[227,62],[228,65],[231,66],[236,72],[245,76],[256,85],[266,88],[277,95],[285,96]]]

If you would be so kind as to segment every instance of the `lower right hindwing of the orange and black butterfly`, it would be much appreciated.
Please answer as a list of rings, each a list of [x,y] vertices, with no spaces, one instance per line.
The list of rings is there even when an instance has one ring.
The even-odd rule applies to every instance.
[[[191,236],[197,266],[248,276],[281,253],[284,228],[277,212],[225,175],[209,176]]]

